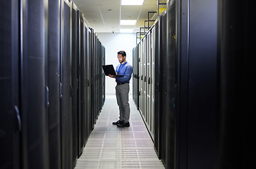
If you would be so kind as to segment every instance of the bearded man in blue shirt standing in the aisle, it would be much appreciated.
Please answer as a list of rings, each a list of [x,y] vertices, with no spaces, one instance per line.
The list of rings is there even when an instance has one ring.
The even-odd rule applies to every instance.
[[[109,77],[116,78],[116,101],[119,106],[119,120],[113,122],[118,127],[129,127],[130,105],[129,105],[129,83],[133,73],[133,66],[126,61],[126,52],[118,51],[117,58],[120,65],[116,66],[116,75]]]

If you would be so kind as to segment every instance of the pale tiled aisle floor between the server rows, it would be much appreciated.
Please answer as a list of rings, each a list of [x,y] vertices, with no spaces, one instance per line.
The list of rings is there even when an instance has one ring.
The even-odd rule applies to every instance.
[[[80,168],[164,168],[139,111],[130,96],[130,127],[116,127],[118,106],[115,96],[107,96],[94,130],[78,158]]]

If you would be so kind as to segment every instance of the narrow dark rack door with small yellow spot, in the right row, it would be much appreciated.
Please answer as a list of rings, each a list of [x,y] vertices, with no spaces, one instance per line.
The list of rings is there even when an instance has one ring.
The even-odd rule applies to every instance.
[[[167,103],[166,113],[166,168],[175,167],[175,147],[176,147],[176,0],[167,1],[166,9],[166,43],[167,43],[167,77],[166,77],[166,90]]]

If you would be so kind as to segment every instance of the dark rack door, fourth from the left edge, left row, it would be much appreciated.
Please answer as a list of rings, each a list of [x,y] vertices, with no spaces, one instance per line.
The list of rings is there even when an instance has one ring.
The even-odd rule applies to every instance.
[[[61,168],[72,168],[71,13],[69,1],[61,1]]]

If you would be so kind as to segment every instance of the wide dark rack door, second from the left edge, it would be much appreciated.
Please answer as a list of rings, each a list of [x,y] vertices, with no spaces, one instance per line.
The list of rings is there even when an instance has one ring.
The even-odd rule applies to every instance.
[[[22,2],[21,115],[23,168],[48,168],[45,35],[47,1]],[[35,17],[37,16],[37,17]],[[44,34],[44,32],[46,34]],[[48,88],[48,89],[47,89]],[[48,101],[47,101],[48,102]]]

